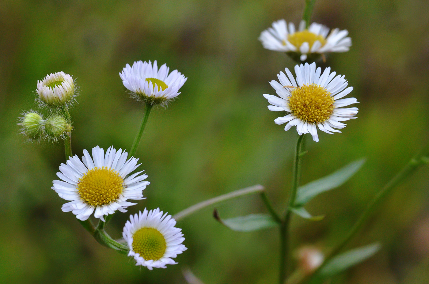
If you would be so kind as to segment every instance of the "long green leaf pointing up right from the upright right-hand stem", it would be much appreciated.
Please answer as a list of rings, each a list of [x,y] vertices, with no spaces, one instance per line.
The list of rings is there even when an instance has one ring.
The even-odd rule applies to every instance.
[[[323,178],[311,181],[299,187],[296,193],[294,207],[305,205],[305,203],[313,199],[314,196],[344,184],[344,182],[351,178],[363,166],[363,163],[365,163],[365,159],[354,161],[330,175],[326,175]]]

